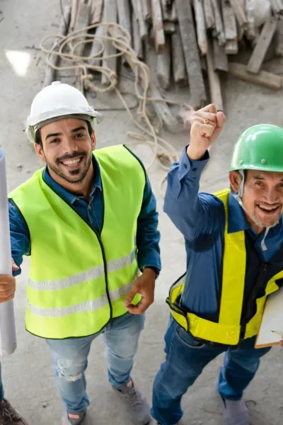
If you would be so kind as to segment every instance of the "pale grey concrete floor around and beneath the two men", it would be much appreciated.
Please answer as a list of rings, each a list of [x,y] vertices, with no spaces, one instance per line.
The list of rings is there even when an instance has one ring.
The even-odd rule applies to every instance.
[[[0,0],[0,9],[1,16],[4,17],[0,23],[0,145],[6,151],[8,186],[12,189],[28,179],[40,166],[33,147],[28,145],[25,135],[21,132],[20,124],[29,113],[30,103],[40,90],[45,72],[42,54],[30,47],[38,47],[42,38],[50,33],[56,33],[57,27],[54,25],[59,23],[59,1]],[[15,64],[18,58],[15,52],[21,52],[20,64]],[[15,70],[17,66],[19,66],[18,72]],[[281,70],[283,73],[282,61],[272,61],[267,67],[277,69],[277,72]],[[219,141],[211,150],[212,160],[202,178],[202,189],[206,191],[215,191],[226,186],[229,152],[241,130],[255,123],[283,125],[282,91],[262,89],[232,77],[224,81],[223,88],[228,120]],[[176,92],[171,96],[182,100],[188,99],[189,103],[186,91],[182,94]],[[98,106],[96,101],[93,101],[93,105]],[[105,113],[105,119],[98,125],[96,132],[98,147],[127,142],[127,130],[135,128],[125,112]],[[166,138],[181,152],[187,143],[189,133],[166,134]],[[149,164],[151,160],[149,149],[139,147],[134,150],[145,164]],[[163,334],[168,319],[165,298],[173,280],[185,271],[183,239],[162,212],[163,200],[158,193],[158,182],[162,175],[163,171],[158,164],[149,171],[160,212],[163,271],[158,278],[156,302],[147,314],[146,329],[141,337],[133,372],[134,378],[149,398],[154,375],[163,360]],[[13,356],[3,360],[6,397],[22,412],[30,425],[59,424],[62,406],[54,387],[50,354],[45,341],[31,336],[24,327],[27,276],[28,261],[25,261],[23,273],[17,280],[15,300],[18,349]],[[283,351],[273,348],[262,360],[255,380],[246,391],[245,399],[248,400],[250,409],[255,414],[258,413],[260,418],[253,425],[282,424],[282,360]],[[221,362],[222,358],[219,357],[209,364],[195,386],[187,392],[183,399],[185,410],[183,424],[221,424],[219,400],[214,389]],[[129,425],[125,413],[108,385],[103,343],[100,339],[93,344],[87,378],[93,424]]]

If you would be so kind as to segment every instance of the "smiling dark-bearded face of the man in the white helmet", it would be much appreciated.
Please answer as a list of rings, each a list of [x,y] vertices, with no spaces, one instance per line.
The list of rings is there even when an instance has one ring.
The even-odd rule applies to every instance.
[[[83,183],[91,172],[94,132],[77,118],[65,118],[44,125],[40,130],[42,146],[35,144],[38,157],[47,163],[50,176],[62,186]]]

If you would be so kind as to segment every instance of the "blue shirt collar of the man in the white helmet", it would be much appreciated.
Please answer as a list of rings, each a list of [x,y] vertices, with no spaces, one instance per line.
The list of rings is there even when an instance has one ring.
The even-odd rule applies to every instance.
[[[100,191],[102,191],[100,166],[98,164],[98,160],[96,159],[94,155],[93,155],[93,169],[94,169],[94,180],[93,180],[93,187],[91,189],[91,196],[93,196],[93,193],[96,191],[97,188],[100,189]],[[48,172],[47,166],[43,170],[42,176],[43,176],[43,179],[45,179],[45,181],[47,182],[47,184],[51,186],[56,193],[58,193],[61,196],[64,196],[64,198],[69,203],[73,204],[76,199],[81,198],[81,196],[77,196],[74,193],[67,191],[60,184],[54,181]]]

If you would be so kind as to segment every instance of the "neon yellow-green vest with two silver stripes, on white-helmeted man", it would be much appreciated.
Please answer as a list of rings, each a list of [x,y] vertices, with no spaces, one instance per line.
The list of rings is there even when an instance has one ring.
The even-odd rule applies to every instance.
[[[11,193],[30,232],[25,326],[49,339],[95,334],[125,314],[137,277],[137,218],[146,182],[143,166],[122,145],[98,149],[104,217],[100,234],[42,178]],[[140,296],[134,298],[139,302]]]

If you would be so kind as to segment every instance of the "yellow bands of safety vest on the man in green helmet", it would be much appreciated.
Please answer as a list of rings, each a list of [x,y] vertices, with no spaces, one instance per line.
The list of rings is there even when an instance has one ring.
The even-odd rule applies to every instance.
[[[196,338],[219,344],[237,345],[241,338],[246,339],[258,334],[267,295],[279,289],[276,280],[283,278],[283,271],[280,271],[268,281],[265,295],[256,300],[257,310],[255,315],[243,329],[241,314],[246,276],[245,232],[228,233],[229,189],[217,192],[215,196],[224,203],[226,216],[219,321],[211,322],[198,317],[197,314],[183,310],[180,306],[180,298],[185,285],[183,276],[171,287],[166,302],[171,307],[171,314],[175,321],[186,331],[190,331],[190,334]]]

